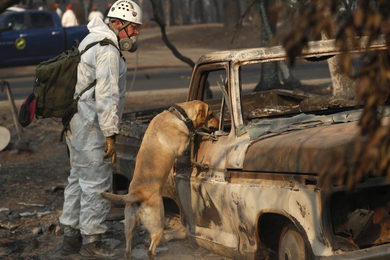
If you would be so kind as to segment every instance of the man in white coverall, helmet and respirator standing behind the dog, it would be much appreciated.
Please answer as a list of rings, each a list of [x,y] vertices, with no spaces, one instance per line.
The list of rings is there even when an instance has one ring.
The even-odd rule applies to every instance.
[[[110,39],[118,49],[96,44],[81,56],[77,67],[76,98],[96,79],[94,88],[81,95],[77,113],[66,132],[71,171],[65,189],[63,213],[64,255],[79,253],[82,258],[115,259],[117,250],[101,242],[107,226],[104,221],[111,203],[100,193],[112,190],[112,164],[115,161],[115,135],[122,117],[126,91],[126,64],[122,51],[136,50],[136,35],[142,24],[142,12],[130,0],[114,3],[108,13],[110,24],[94,17],[89,34],[80,43]]]

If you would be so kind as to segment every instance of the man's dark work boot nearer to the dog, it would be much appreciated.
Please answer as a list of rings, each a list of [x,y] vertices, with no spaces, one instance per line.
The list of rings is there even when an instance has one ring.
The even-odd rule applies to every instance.
[[[83,235],[83,246],[80,249],[82,259],[116,259],[120,252],[111,249],[101,241],[101,235]]]

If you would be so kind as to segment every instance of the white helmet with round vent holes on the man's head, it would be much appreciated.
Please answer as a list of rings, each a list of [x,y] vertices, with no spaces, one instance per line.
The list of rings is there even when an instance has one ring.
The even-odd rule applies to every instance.
[[[141,8],[130,0],[116,1],[107,14],[108,17],[115,17],[131,23],[142,24]]]

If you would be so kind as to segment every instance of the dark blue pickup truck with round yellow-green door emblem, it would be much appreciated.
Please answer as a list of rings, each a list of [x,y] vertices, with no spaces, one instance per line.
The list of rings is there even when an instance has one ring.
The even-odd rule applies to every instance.
[[[36,65],[71,49],[89,33],[86,26],[62,27],[47,10],[6,10],[0,14],[0,68]]]

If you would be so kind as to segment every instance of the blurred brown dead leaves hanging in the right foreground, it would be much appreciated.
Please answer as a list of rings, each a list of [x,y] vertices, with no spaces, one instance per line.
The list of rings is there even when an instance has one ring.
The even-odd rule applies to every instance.
[[[342,8],[341,8],[342,7]],[[335,38],[342,51],[343,73],[352,64],[348,52],[362,37],[367,46],[384,36],[390,46],[390,1],[388,0],[311,0],[300,1],[295,15],[296,27],[284,38],[290,63],[300,55],[308,41],[321,37]],[[360,57],[368,61],[356,75],[359,79],[356,94],[364,105],[360,136],[348,151],[340,151],[324,165],[323,181],[334,185],[354,187],[366,176],[390,177],[390,128],[378,118],[378,108],[388,98],[390,82],[389,50],[367,52]],[[351,152],[351,150],[353,152]]]

